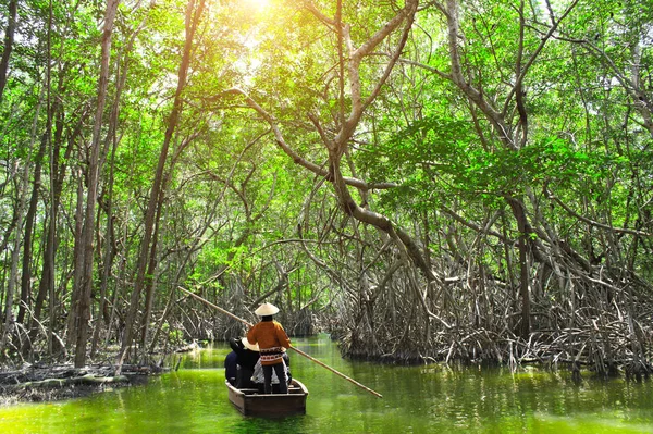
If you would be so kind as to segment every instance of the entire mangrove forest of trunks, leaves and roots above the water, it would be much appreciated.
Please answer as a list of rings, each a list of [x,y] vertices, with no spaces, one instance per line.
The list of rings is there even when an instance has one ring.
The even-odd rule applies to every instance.
[[[653,7],[0,5],[5,358],[227,338],[650,371]]]

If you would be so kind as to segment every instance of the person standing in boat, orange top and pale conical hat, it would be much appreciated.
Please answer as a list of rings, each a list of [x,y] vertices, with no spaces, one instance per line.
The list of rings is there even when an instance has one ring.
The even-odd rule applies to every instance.
[[[261,321],[247,332],[247,340],[251,345],[258,344],[260,350],[261,368],[263,370],[263,389],[266,394],[272,393],[272,371],[279,379],[279,392],[288,393],[286,367],[283,360],[283,349],[291,348],[291,339],[283,326],[273,320],[272,315],[279,308],[264,302],[254,311],[261,317]]]

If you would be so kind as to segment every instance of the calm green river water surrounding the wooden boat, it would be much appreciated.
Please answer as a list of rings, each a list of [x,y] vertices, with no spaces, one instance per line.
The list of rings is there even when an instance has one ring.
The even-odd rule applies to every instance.
[[[291,352],[310,392],[306,416],[245,418],[224,387],[229,348],[217,345],[143,387],[0,408],[0,433],[653,433],[653,382],[377,365],[341,359],[328,336],[294,343],[383,399]]]

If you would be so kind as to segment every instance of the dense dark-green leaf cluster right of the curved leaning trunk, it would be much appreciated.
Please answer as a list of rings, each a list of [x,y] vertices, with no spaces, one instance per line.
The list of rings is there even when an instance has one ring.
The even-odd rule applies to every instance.
[[[364,147],[358,161],[372,179],[401,184],[385,197],[394,198],[394,206],[407,195],[428,194],[422,197],[424,206],[447,196],[480,197],[491,204],[522,194],[525,186],[569,188],[579,179],[596,186],[628,163],[602,150],[579,150],[562,138],[542,139],[516,151],[485,149],[473,140],[468,123],[439,117],[414,122],[390,140]]]

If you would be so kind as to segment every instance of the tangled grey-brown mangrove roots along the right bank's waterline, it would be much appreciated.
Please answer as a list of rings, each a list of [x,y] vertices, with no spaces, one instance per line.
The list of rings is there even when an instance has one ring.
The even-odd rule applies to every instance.
[[[359,308],[350,303],[340,309],[354,312],[343,315],[333,333],[345,357],[402,364],[501,364],[514,370],[528,363],[572,372],[582,367],[603,377],[633,380],[653,373],[653,299],[645,285],[629,288],[634,280],[611,290],[605,285],[577,284],[572,295],[541,289],[533,295],[527,337],[520,334],[520,313],[506,309],[517,306],[510,300],[515,292],[505,286],[486,281],[485,287],[471,290],[469,285],[449,284],[442,301],[431,308],[446,309],[448,314],[436,319],[415,299],[429,292],[410,289],[406,282],[361,289]]]

